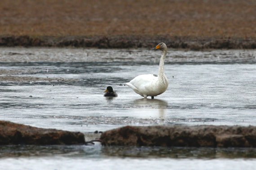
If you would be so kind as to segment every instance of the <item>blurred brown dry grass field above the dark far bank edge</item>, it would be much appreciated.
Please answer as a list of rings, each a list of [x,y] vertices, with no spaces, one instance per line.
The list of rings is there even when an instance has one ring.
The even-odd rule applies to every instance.
[[[255,0],[1,0],[0,35],[256,38]]]

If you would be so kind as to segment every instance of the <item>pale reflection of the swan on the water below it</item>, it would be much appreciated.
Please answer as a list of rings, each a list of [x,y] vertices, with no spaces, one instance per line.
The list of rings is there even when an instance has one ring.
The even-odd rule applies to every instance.
[[[165,118],[168,102],[160,99],[137,99],[132,101],[133,113],[139,118]]]

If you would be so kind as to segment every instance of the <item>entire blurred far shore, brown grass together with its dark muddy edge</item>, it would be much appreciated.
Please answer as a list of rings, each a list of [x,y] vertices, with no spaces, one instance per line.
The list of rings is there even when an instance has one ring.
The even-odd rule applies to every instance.
[[[256,48],[255,0],[1,0],[0,46]]]

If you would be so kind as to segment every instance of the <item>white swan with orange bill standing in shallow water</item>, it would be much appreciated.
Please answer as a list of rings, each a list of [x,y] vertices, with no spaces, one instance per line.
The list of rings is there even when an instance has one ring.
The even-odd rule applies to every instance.
[[[160,43],[152,50],[162,50],[159,71],[157,74],[142,74],[133,78],[129,83],[126,83],[127,86],[132,88],[132,90],[144,98],[151,96],[151,99],[154,99],[154,96],[158,96],[166,91],[168,87],[168,79],[164,74],[164,59],[166,57],[167,47],[164,43]]]

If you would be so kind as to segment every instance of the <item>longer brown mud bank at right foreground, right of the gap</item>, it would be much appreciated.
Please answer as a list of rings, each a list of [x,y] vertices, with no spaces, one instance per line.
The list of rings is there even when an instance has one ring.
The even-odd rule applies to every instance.
[[[256,126],[125,126],[105,131],[103,145],[256,147]]]

